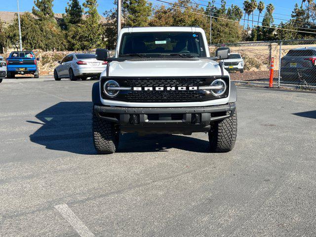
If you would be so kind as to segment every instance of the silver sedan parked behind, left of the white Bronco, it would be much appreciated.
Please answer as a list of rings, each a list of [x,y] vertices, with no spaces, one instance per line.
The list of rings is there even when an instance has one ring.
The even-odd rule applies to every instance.
[[[54,70],[55,80],[99,78],[107,67],[107,62],[98,61],[94,53],[71,53],[58,63]]]

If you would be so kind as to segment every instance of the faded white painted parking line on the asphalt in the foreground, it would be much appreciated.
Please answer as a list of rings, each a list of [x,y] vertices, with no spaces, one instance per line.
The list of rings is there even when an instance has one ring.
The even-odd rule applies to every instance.
[[[55,206],[69,224],[78,232],[81,237],[95,237],[91,231],[79,220],[76,214],[68,207],[67,204]]]

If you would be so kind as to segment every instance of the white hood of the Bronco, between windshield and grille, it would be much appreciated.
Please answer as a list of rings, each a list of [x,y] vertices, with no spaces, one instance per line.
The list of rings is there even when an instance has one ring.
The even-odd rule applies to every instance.
[[[221,76],[221,69],[209,59],[126,60],[110,63],[110,77]],[[226,75],[226,74],[225,74]]]

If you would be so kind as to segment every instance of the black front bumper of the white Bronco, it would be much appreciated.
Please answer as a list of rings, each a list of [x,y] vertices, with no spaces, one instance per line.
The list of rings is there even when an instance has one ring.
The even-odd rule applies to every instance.
[[[119,123],[122,132],[191,134],[208,132],[211,124],[232,117],[235,103],[186,108],[123,108],[94,106],[98,118]]]

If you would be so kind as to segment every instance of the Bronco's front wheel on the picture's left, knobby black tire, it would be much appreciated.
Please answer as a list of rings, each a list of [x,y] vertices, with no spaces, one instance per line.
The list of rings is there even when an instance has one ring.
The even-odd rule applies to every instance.
[[[92,110],[93,143],[99,154],[113,154],[119,141],[119,125],[102,120]]]

